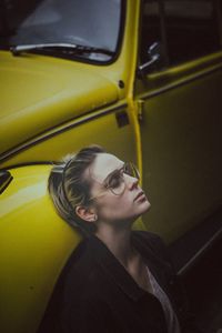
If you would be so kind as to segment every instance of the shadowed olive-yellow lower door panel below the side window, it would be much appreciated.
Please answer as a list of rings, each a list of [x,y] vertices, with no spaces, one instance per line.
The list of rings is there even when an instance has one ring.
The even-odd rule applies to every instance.
[[[152,202],[144,221],[172,241],[222,202],[222,54],[148,74],[137,89],[149,170],[143,186]]]

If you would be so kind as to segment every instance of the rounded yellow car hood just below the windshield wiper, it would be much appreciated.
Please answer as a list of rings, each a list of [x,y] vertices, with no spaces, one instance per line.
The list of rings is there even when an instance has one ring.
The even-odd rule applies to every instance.
[[[119,98],[98,67],[43,56],[0,52],[0,153]]]

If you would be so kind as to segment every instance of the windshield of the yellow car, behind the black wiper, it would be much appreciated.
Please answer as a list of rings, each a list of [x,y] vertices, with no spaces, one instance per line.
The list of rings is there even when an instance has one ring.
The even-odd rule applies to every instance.
[[[4,49],[29,46],[33,52],[46,49],[48,52],[54,52],[56,49],[62,52],[62,49],[70,47],[72,51],[69,50],[69,54],[109,61],[118,48],[121,2],[0,0],[0,46]]]

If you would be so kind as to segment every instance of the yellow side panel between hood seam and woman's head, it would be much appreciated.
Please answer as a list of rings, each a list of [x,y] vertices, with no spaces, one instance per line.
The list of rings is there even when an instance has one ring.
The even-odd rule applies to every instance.
[[[119,124],[119,119],[123,119],[122,124]],[[82,145],[104,145],[107,150],[122,155],[122,159],[138,164],[134,131],[133,119],[127,104],[104,108],[36,137],[20,145],[18,151],[14,150],[14,155],[11,154],[10,160],[6,160],[2,165],[8,168],[9,163],[47,161],[49,157],[56,161],[77,151],[80,142]]]

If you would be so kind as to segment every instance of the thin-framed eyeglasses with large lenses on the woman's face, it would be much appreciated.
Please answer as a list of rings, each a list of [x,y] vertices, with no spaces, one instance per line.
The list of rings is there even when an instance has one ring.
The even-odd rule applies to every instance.
[[[137,167],[131,162],[125,162],[122,168],[111,172],[101,183],[101,185],[105,188],[105,190],[110,190],[114,195],[121,195],[125,190],[124,174],[140,180],[140,172]],[[99,182],[98,180],[95,181]],[[101,192],[100,194],[92,196],[89,200],[97,199],[104,193],[105,192]]]

